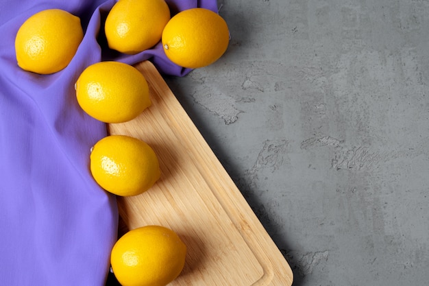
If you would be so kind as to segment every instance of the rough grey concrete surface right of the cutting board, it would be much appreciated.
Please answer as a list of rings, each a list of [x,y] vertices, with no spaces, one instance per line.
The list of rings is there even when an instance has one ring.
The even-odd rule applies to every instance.
[[[429,2],[219,5],[227,53],[167,83],[293,285],[429,285]]]

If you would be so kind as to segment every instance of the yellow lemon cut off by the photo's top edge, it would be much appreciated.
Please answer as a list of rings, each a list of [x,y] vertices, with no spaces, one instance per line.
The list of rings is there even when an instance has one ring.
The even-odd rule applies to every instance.
[[[161,40],[169,19],[169,6],[164,0],[118,1],[104,25],[108,45],[129,54],[149,49]]]

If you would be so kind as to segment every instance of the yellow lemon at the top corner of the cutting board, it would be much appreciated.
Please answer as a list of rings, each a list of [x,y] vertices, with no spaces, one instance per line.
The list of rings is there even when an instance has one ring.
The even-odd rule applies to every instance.
[[[106,123],[130,121],[151,105],[145,77],[123,62],[90,65],[79,75],[75,88],[79,106]]]

